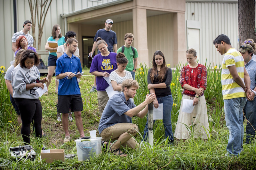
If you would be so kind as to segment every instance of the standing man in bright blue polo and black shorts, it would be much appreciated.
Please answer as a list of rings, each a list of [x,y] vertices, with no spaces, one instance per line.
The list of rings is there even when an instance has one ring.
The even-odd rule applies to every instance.
[[[76,126],[79,130],[80,137],[84,137],[83,121],[81,111],[83,110],[83,100],[77,83],[77,78],[81,78],[82,66],[80,59],[73,55],[78,46],[78,41],[74,38],[67,40],[66,53],[61,55],[56,61],[56,78],[59,79],[58,89],[58,108],[57,112],[62,114],[62,124],[65,131],[64,143],[70,141],[68,132],[68,112],[74,112],[76,117]]]

